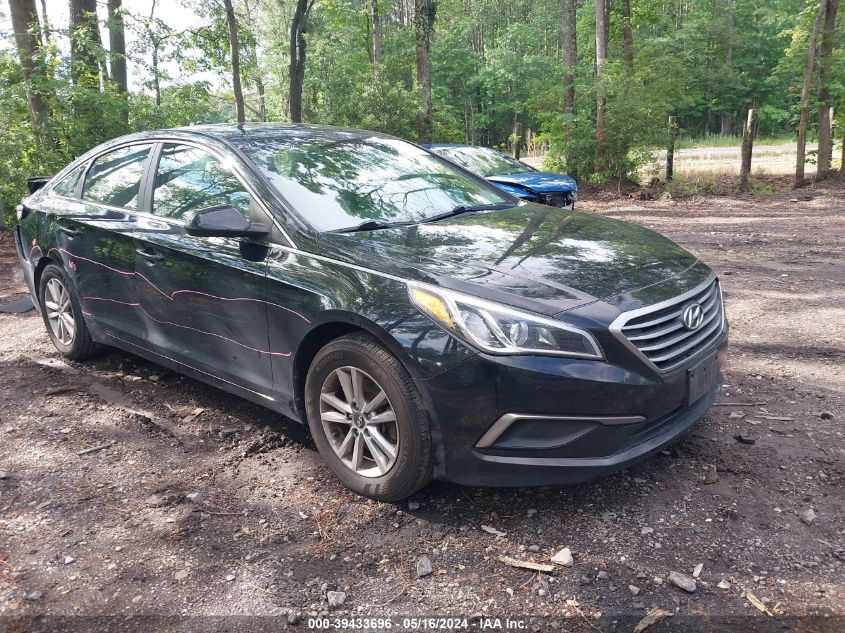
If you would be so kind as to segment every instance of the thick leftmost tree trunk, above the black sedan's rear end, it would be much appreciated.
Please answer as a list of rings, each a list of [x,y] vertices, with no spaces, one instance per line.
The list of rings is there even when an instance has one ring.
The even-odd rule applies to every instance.
[[[21,62],[21,75],[26,82],[26,102],[32,133],[36,146],[42,148],[45,145],[44,125],[50,115],[50,109],[44,98],[44,86],[40,85],[45,79],[46,71],[37,58],[41,48],[38,11],[34,0],[9,0],[9,9]]]

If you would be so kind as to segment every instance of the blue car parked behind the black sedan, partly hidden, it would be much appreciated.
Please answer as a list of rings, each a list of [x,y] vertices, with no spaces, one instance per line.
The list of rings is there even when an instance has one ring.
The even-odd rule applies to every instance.
[[[424,147],[523,200],[572,209],[578,198],[578,184],[574,178],[537,171],[488,147],[452,144]]]

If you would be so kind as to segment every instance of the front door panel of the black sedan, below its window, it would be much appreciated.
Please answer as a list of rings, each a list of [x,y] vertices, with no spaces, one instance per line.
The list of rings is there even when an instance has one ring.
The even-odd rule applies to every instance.
[[[137,292],[150,346],[265,397],[272,393],[265,301],[266,248],[187,235],[144,218],[135,232]]]

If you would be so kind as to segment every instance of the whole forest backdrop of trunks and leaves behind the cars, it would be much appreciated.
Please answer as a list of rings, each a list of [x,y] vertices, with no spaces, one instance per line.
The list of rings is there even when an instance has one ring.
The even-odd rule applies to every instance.
[[[641,177],[670,116],[684,137],[730,139],[754,109],[757,138],[796,144],[800,186],[845,168],[838,4],[2,0],[6,222],[28,177],[100,142],[227,121],[541,151],[605,182]]]

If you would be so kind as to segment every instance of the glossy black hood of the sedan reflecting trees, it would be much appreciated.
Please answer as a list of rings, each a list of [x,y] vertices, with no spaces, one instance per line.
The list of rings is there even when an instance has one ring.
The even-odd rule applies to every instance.
[[[635,291],[694,267],[698,281],[710,274],[654,231],[533,203],[430,224],[326,234],[323,242],[325,254],[358,266],[548,314],[596,300],[630,304]],[[655,299],[661,297],[648,302]]]

